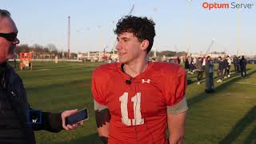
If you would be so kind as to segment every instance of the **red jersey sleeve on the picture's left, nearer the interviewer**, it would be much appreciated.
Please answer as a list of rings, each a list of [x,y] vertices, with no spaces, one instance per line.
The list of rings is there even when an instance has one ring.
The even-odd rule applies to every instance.
[[[106,106],[106,99],[104,98],[101,78],[94,71],[91,78],[91,93],[93,94],[94,101]]]

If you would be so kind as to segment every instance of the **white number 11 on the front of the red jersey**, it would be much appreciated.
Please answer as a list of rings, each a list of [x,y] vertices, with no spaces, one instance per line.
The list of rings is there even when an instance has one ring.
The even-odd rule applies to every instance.
[[[142,118],[141,113],[141,93],[137,93],[134,97],[131,98],[131,102],[134,102],[134,119],[128,118],[128,93],[125,92],[119,97],[119,101],[121,102],[121,114],[122,114],[122,123],[126,126],[131,126],[131,122],[133,126],[144,124],[144,119]]]

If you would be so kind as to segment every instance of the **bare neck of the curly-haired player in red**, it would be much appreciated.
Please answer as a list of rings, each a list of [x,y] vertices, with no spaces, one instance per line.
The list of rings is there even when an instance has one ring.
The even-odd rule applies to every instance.
[[[148,60],[145,59],[141,62],[127,63],[124,65],[123,70],[126,74],[130,75],[130,77],[134,78],[139,74],[142,74],[148,66]]]

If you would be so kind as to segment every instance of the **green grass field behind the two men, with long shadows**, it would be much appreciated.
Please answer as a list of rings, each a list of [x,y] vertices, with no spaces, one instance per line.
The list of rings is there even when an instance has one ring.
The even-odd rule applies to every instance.
[[[90,120],[77,130],[62,130],[57,134],[38,131],[37,143],[101,143],[90,93],[91,72],[100,64],[34,62],[34,70],[18,70],[34,109],[59,112],[87,107],[90,110]],[[184,143],[256,143],[256,65],[248,68],[249,78],[233,75],[222,84],[215,83],[214,94],[205,94],[203,83],[188,86],[190,110]],[[188,76],[195,81],[195,74]]]

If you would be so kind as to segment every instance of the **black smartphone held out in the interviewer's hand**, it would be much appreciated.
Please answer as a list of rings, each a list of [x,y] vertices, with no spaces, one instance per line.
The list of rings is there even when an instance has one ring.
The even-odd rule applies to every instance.
[[[79,110],[77,113],[66,117],[66,125],[72,125],[82,120],[87,120],[88,118],[89,118],[88,110],[82,109],[82,110]]]

